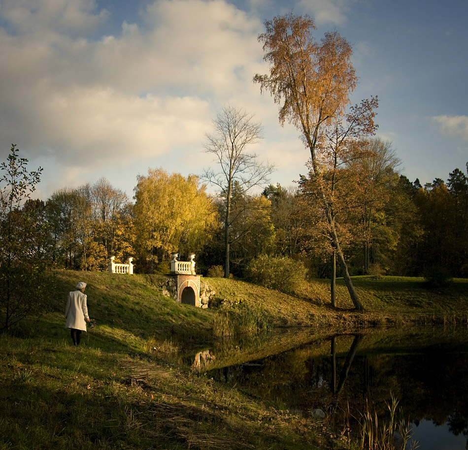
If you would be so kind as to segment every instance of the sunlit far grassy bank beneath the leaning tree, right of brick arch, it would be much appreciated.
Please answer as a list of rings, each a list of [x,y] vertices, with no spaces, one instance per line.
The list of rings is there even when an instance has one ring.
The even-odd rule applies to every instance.
[[[468,317],[467,279],[456,279],[443,289],[429,289],[423,278],[353,277],[364,313],[353,311],[342,280],[337,281],[337,309],[330,307],[327,280],[304,283],[296,297],[242,281],[216,278],[207,282],[219,296],[261,309],[273,326],[333,326],[349,330],[404,323],[466,322]]]

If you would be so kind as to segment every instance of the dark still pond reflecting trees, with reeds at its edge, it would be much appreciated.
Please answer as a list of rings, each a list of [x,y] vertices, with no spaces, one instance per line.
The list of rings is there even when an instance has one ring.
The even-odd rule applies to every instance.
[[[322,415],[351,432],[366,410],[389,418],[398,399],[424,450],[468,449],[468,330],[383,330],[316,336],[275,334],[254,345],[198,352],[193,368],[273,406]],[[349,407],[349,409],[348,409]]]

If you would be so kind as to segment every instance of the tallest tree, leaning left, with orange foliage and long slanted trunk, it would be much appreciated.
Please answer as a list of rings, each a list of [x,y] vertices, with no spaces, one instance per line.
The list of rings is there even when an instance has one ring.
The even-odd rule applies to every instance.
[[[354,119],[347,117],[349,96],[357,77],[351,64],[352,48],[337,32],[326,33],[318,42],[311,34],[315,30],[313,20],[293,14],[275,17],[265,26],[267,31],[260,34],[259,41],[263,43],[264,60],[270,64],[270,71],[269,75],[255,75],[254,82],[260,84],[262,91],[269,91],[280,105],[280,123],[288,121],[301,131],[310,151],[311,175],[317,184],[346,287],[356,310],[363,310],[341,250],[331,190],[333,178],[330,184],[327,177],[330,170],[333,177],[333,169],[338,169],[346,159],[342,149],[347,148],[346,143],[355,131],[373,132],[377,100],[364,100],[361,106],[351,109],[349,114]],[[347,122],[344,127],[343,119]]]

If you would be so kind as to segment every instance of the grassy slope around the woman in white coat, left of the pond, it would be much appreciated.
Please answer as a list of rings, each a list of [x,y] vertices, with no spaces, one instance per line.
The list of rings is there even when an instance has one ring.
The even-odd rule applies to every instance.
[[[98,325],[71,346],[78,280]],[[162,295],[162,277],[57,272],[52,311],[0,335],[0,449],[306,449],[302,418],[182,367],[215,312]],[[313,448],[313,447],[312,447]]]

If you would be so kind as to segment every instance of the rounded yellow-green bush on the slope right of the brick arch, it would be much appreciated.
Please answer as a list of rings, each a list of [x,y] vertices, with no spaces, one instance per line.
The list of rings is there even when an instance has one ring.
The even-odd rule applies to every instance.
[[[245,277],[252,283],[292,294],[305,279],[306,269],[301,261],[288,257],[261,255],[252,259],[245,269]]]

